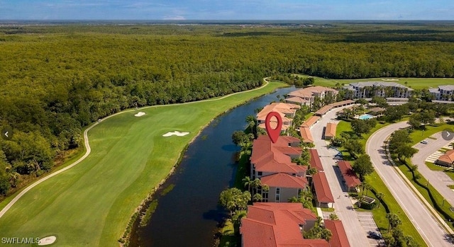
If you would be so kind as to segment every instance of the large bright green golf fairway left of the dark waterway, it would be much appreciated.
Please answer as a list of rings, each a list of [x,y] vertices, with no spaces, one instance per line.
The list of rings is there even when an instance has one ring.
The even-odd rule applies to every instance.
[[[270,83],[221,100],[127,111],[89,131],[92,154],[21,197],[0,218],[1,236],[57,236],[58,246],[118,246],[136,207],[175,165],[210,120],[250,98],[285,86]],[[170,131],[184,137],[162,137]],[[6,205],[0,204],[0,208]]]

